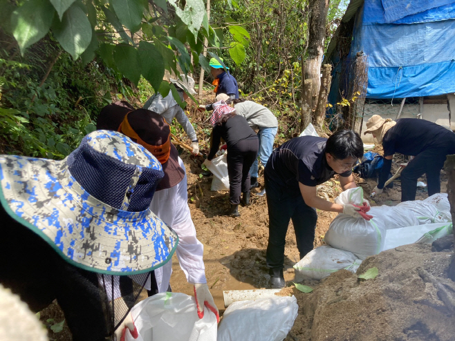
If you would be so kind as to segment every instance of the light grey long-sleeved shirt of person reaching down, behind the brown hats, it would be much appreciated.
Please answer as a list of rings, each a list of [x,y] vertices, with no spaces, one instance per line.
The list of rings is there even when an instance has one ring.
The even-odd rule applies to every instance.
[[[183,101],[183,97],[180,97],[180,99]],[[196,141],[198,139],[191,122],[189,121],[187,115],[185,115],[183,109],[180,108],[174,99],[174,96],[172,96],[172,92],[169,91],[169,95],[165,98],[163,98],[159,92],[153,95],[147,102],[145,102],[144,109],[160,114],[165,118],[169,125],[172,124],[172,119],[175,117],[178,123],[183,126],[183,130],[185,130],[189,139],[192,141]]]

